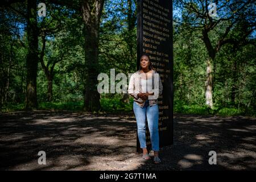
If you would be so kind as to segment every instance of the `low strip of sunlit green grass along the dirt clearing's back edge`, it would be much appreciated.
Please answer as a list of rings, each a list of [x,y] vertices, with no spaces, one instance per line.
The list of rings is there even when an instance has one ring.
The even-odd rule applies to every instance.
[[[124,103],[121,101],[121,97],[113,98],[101,98],[101,112],[106,113],[126,113],[133,111],[133,98],[130,98],[130,103]],[[2,107],[1,111],[11,112],[23,110],[24,104],[8,105]],[[38,106],[39,110],[69,110],[69,111],[82,111],[83,102],[40,102]],[[234,116],[234,115],[251,115],[255,117],[253,109],[238,109],[234,106],[222,107],[214,106],[213,109],[209,109],[207,106],[198,104],[188,104],[184,101],[174,102],[174,113],[179,114],[199,114],[199,115],[222,115],[222,116]]]

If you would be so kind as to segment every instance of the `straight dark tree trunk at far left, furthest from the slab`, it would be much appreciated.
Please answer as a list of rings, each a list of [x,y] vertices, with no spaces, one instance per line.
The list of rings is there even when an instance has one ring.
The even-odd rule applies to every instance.
[[[36,76],[38,71],[38,23],[36,19],[36,0],[27,1],[27,92],[26,109],[38,107],[36,96]]]

